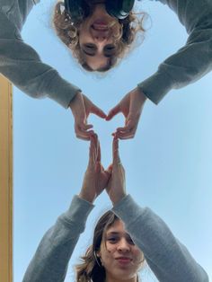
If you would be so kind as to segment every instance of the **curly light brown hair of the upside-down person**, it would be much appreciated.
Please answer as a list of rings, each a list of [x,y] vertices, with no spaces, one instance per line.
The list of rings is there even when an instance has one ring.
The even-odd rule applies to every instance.
[[[59,1],[54,9],[53,25],[57,36],[72,50],[74,57],[78,60],[79,64],[87,71],[93,71],[85,61],[84,53],[79,44],[79,26],[84,21],[84,18],[88,16],[88,13],[83,14],[78,21],[72,21],[71,15],[66,13],[64,2]],[[119,20],[121,33],[116,40],[116,51],[113,56],[110,57],[107,66],[98,69],[99,72],[105,72],[111,67],[115,66],[119,58],[124,57],[130,50],[132,43],[136,40],[137,33],[139,32],[144,37],[145,28],[143,26],[146,13],[132,13],[128,14],[128,17]]]

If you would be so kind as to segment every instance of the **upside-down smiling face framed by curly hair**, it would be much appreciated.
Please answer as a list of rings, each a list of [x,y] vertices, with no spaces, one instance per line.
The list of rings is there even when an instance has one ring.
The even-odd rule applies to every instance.
[[[119,34],[119,21],[106,12],[103,3],[95,3],[93,13],[79,27],[79,44],[87,65],[93,70],[107,66],[116,50],[114,37]]]

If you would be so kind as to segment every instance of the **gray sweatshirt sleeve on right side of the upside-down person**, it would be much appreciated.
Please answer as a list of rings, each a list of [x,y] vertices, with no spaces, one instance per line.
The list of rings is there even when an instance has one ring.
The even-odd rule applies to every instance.
[[[189,38],[184,47],[163,61],[154,75],[138,84],[155,104],[170,90],[193,83],[212,69],[212,1],[158,1],[177,13]]]

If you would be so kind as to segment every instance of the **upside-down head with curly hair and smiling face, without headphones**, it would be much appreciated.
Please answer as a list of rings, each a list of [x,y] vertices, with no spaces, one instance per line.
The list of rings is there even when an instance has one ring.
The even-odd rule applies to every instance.
[[[71,1],[70,5],[74,2]],[[145,13],[130,12],[118,19],[105,9],[104,0],[81,2],[82,13],[77,17],[66,11],[64,2],[56,4],[53,23],[57,36],[71,49],[84,69],[105,72],[128,53],[137,33],[145,32]]]

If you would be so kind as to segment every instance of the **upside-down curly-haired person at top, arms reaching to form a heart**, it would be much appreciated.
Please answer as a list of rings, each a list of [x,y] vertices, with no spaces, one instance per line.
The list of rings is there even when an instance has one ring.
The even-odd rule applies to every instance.
[[[154,1],[154,0],[153,0]],[[212,68],[212,2],[210,0],[155,0],[166,4],[178,15],[189,33],[182,48],[168,57],[154,75],[137,84],[106,115],[73,84],[41,62],[33,48],[22,40],[21,31],[27,15],[40,0],[1,0],[0,72],[13,84],[34,98],[49,97],[75,117],[75,135],[89,140],[93,126],[87,124],[90,113],[110,120],[119,112],[125,126],[117,128],[120,139],[135,137],[146,99],[158,104],[172,89],[184,87],[208,74]],[[105,2],[84,0],[86,8],[74,19],[59,1],[53,22],[58,37],[88,71],[105,72],[115,66],[130,50],[137,34],[144,33],[143,17],[130,12],[123,20],[110,16]]]

